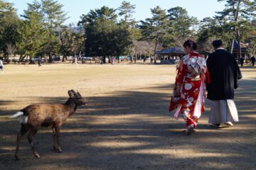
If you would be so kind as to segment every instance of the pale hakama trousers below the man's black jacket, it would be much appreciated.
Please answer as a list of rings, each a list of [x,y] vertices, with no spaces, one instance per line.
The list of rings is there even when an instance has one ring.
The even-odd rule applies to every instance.
[[[208,123],[238,122],[238,110],[233,100],[211,101]]]

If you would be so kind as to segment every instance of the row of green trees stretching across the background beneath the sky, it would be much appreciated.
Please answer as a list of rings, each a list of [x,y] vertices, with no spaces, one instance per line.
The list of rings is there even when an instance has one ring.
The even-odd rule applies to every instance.
[[[68,14],[56,0],[35,0],[27,4],[21,16],[14,4],[0,0],[0,52],[7,59],[14,53],[21,58],[47,56],[49,62],[54,55],[63,55],[65,61],[81,52],[103,58],[142,52],[149,56],[163,48],[182,46],[190,38],[198,42],[200,52],[211,52],[215,39],[223,40],[232,50],[235,39],[239,44],[248,43],[248,54],[255,55],[256,1],[216,1],[225,1],[224,10],[202,21],[180,6],[156,6],[150,9],[149,18],[136,21],[136,6],[122,1],[118,8],[102,6],[82,14],[75,26],[65,24]]]

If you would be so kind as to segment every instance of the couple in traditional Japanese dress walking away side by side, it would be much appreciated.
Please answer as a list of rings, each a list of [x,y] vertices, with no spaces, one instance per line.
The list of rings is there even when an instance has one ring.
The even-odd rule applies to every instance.
[[[220,124],[231,126],[238,122],[238,111],[233,101],[234,89],[242,74],[235,57],[223,48],[221,40],[214,40],[215,52],[205,57],[196,52],[196,42],[187,40],[183,44],[187,53],[177,67],[174,94],[171,96],[169,111],[175,111],[178,119],[181,113],[186,121],[186,135],[195,132],[198,119],[204,111],[204,98],[211,101],[210,126]]]

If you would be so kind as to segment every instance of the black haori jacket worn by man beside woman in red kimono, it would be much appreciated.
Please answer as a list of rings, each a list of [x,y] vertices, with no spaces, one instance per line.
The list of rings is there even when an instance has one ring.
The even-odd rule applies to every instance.
[[[207,98],[212,101],[233,99],[238,79],[242,79],[235,57],[224,49],[216,50],[209,55],[207,67],[210,75]]]

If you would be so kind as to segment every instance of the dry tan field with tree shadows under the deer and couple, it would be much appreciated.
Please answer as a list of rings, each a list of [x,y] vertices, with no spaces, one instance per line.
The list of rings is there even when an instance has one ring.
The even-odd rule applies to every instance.
[[[240,122],[207,126],[209,101],[196,133],[168,112],[174,65],[5,65],[0,73],[0,169],[256,169],[256,68],[242,68],[236,91]],[[87,99],[60,132],[63,153],[53,151],[50,128],[35,138],[40,159],[8,118],[31,103],[64,103],[68,90]]]

